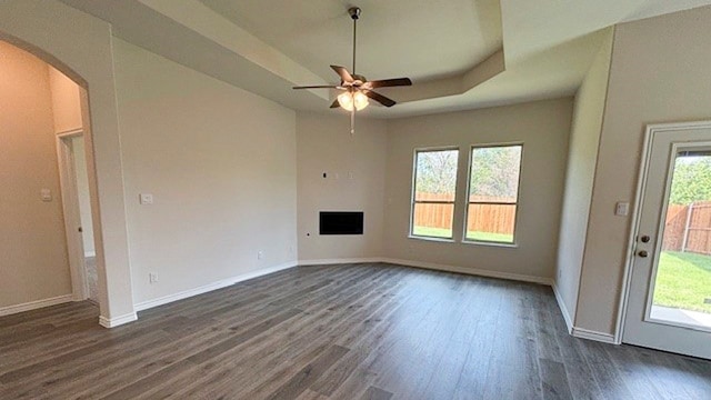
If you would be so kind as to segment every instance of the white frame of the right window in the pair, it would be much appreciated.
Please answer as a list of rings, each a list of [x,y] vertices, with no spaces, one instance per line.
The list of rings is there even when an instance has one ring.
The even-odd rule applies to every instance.
[[[487,144],[472,144],[469,148],[469,169],[467,172],[467,197],[464,199],[464,221],[462,227],[462,243],[467,244],[477,244],[477,246],[491,246],[491,247],[507,247],[507,248],[518,248],[518,231],[519,231],[519,210],[521,206],[521,181],[523,177],[523,151],[524,151],[523,142],[504,142],[504,143],[487,143]],[[471,198],[471,173],[473,169],[474,161],[474,150],[475,149],[490,149],[490,148],[504,148],[504,147],[520,147],[521,148],[521,158],[519,161],[519,180],[517,182],[517,191],[515,191],[515,202],[505,202],[505,201],[470,201]],[[467,230],[469,228],[469,208],[471,204],[502,204],[502,206],[515,206],[515,213],[513,214],[513,239],[511,242],[503,241],[492,241],[492,240],[477,240],[477,239],[468,239]]]

